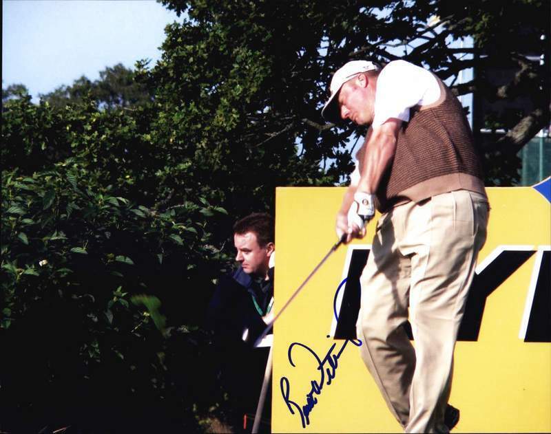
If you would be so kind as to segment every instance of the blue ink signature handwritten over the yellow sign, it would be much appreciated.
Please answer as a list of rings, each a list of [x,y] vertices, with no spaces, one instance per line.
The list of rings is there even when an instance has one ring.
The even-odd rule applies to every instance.
[[[335,318],[339,319],[339,316],[337,314],[337,296],[339,294],[339,291],[346,283],[346,279],[344,279],[339,287],[337,287],[337,292],[335,292],[335,298],[333,299],[333,312],[335,313]],[[329,336],[328,336],[329,337]],[[289,398],[291,393],[291,385],[289,384],[289,379],[287,377],[282,377],[280,380],[280,389],[281,394],[283,397],[283,400],[285,404],[287,404],[287,408],[291,412],[292,415],[295,414],[295,411],[298,412],[300,415],[300,422],[302,423],[302,428],[306,428],[306,425],[310,424],[310,413],[312,412],[315,404],[318,404],[318,398],[315,398],[314,395],[321,395],[323,387],[329,386],[331,384],[331,381],[333,381],[333,378],[335,378],[335,374],[337,372],[337,367],[339,366],[339,358],[342,354],[342,351],[344,351],[344,348],[346,348],[346,345],[351,342],[356,347],[362,346],[362,341],[360,339],[346,339],[340,349],[338,350],[337,354],[333,354],[333,349],[335,349],[336,343],[331,345],[329,347],[329,350],[326,352],[323,359],[321,359],[318,354],[315,354],[315,351],[311,349],[310,347],[298,343],[293,342],[291,345],[289,345],[289,351],[287,352],[287,356],[289,358],[289,362],[291,363],[292,367],[295,367],[296,365],[293,362],[293,349],[295,347],[302,348],[305,351],[307,351],[311,356],[315,359],[315,361],[318,363],[318,367],[316,368],[318,371],[320,371],[320,378],[319,380],[311,380],[311,389],[309,393],[306,393],[306,404],[300,405],[297,404],[295,401],[291,400]]]

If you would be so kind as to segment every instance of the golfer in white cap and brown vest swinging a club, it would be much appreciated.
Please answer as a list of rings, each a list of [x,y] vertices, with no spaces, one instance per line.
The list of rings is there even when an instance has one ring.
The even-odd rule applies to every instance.
[[[351,61],[330,90],[326,120],[370,126],[337,235],[363,237],[382,213],[360,278],[362,358],[404,431],[448,432],[459,417],[444,423],[453,351],[489,210],[468,121],[437,76],[406,61]]]

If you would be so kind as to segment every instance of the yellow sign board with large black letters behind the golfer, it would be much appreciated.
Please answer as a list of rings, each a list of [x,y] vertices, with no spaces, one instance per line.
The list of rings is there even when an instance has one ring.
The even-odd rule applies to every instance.
[[[278,188],[275,312],[335,243],[343,194]],[[488,188],[488,196],[488,239],[455,348],[454,432],[550,432],[550,202],[530,187]],[[358,270],[374,230],[371,222],[364,239],[333,252],[275,323],[275,433],[402,431],[354,336]]]

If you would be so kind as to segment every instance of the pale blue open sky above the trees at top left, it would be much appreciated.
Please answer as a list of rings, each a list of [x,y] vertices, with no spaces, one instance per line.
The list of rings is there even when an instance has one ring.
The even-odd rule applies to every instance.
[[[2,86],[23,83],[33,100],[107,66],[160,57],[165,25],[178,19],[153,0],[3,0]]]

